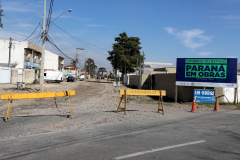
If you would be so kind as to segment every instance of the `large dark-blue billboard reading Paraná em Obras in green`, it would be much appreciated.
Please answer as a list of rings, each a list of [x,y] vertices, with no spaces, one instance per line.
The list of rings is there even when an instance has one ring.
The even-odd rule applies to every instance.
[[[177,58],[177,86],[237,87],[237,58]]]

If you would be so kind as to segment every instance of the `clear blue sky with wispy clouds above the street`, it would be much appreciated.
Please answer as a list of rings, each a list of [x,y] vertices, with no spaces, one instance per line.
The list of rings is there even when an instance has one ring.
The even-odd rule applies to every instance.
[[[24,40],[42,21],[43,0],[1,1],[2,23],[8,30],[0,29],[1,39]],[[47,0],[47,13],[49,3]],[[240,0],[58,0],[54,1],[52,19],[72,9],[54,23],[75,38],[55,25],[50,26],[49,35],[70,57],[75,58],[76,48],[84,48],[78,51],[80,66],[85,58],[93,58],[98,67],[108,71],[107,51],[124,31],[141,39],[147,62],[240,58],[239,8]],[[37,38],[40,31],[38,28],[29,40],[41,45]],[[47,49],[61,55],[49,44]]]

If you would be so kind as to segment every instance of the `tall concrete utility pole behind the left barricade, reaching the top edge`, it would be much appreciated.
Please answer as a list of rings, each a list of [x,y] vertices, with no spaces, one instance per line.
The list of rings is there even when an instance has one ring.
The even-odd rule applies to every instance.
[[[44,83],[45,36],[46,36],[46,0],[44,0],[44,9],[43,9],[42,57],[41,57],[41,74],[40,74],[40,91],[41,92],[43,92],[43,83]]]

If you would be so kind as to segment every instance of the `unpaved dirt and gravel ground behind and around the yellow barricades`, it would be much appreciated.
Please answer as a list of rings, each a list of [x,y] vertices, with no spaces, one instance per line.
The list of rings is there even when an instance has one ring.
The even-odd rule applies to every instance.
[[[57,107],[53,98],[13,100],[11,117],[7,122],[0,122],[0,128],[1,125],[7,127],[8,124],[15,127],[2,131],[1,135],[4,136],[0,136],[0,139],[89,128],[109,123],[167,120],[193,114],[190,112],[192,103],[164,102],[165,114],[162,115],[157,112],[158,101],[148,96],[128,96],[127,115],[124,115],[123,111],[116,113],[121,97],[119,90],[125,88],[124,86],[113,87],[106,80],[46,83],[44,92],[75,90],[76,95],[70,98],[73,119],[69,118],[69,101],[65,97],[57,98]],[[16,85],[0,85],[0,94],[11,92],[39,92],[39,85],[27,85],[23,90],[17,90]],[[6,115],[7,107],[8,101],[0,100],[2,119]],[[208,106],[197,104],[197,112],[213,112],[213,109],[214,104]],[[233,105],[220,106],[220,112],[235,109],[237,107]]]

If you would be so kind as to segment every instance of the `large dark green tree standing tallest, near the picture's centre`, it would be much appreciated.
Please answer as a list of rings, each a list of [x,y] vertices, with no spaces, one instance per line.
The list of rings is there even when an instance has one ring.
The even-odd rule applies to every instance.
[[[114,69],[120,70],[123,74],[134,72],[137,68],[137,62],[140,64],[143,56],[140,54],[140,38],[128,37],[126,32],[120,33],[115,38],[116,43],[113,44],[113,50],[108,51],[109,60]]]

